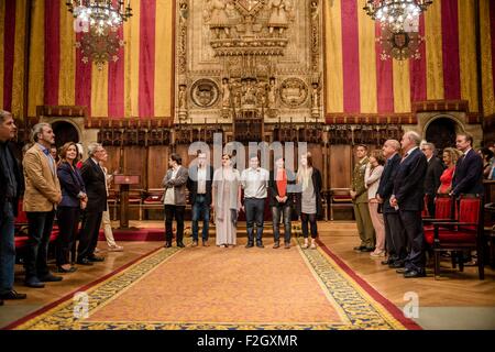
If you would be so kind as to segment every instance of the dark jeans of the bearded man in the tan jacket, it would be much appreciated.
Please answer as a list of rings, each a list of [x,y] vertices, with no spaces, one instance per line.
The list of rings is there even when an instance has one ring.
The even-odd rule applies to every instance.
[[[50,274],[46,261],[55,210],[30,211],[26,215],[30,240],[25,258],[25,278],[40,278]]]

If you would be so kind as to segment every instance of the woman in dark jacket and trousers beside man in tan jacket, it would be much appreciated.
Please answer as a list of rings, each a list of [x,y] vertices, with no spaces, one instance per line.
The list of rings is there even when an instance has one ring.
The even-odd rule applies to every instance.
[[[62,202],[57,207],[59,234],[57,238],[56,262],[58,273],[74,273],[76,268],[68,260],[73,242],[79,228],[80,211],[86,208],[88,196],[77,165],[78,150],[74,142],[61,148],[57,176],[62,188]]]

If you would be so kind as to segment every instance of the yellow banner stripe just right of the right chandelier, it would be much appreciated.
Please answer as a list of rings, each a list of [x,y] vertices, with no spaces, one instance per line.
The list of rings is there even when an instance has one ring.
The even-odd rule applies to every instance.
[[[442,2],[433,1],[425,12],[427,99],[443,99]]]

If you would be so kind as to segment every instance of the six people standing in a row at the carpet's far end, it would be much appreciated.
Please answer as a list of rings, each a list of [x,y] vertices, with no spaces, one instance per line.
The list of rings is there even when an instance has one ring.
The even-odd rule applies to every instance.
[[[283,157],[277,157],[274,170],[268,172],[260,166],[257,155],[250,155],[250,167],[242,173],[234,167],[229,154],[222,155],[221,167],[217,170],[207,162],[206,153],[201,152],[197,154],[197,165],[189,169],[182,166],[178,154],[172,154],[168,163],[170,168],[162,182],[165,188],[165,248],[172,246],[174,219],[177,222],[177,246],[184,246],[184,212],[188,189],[193,206],[193,246],[199,244],[200,220],[202,245],[209,245],[210,217],[215,219],[216,244],[234,246],[239,213],[244,211],[248,232],[245,248],[264,248],[264,215],[265,205],[268,204],[273,217],[274,249],[280,248],[280,219],[284,223],[284,248],[290,248],[293,208],[302,222],[302,248],[316,249],[317,218],[322,213],[321,174],[312,165],[310,153],[301,155],[297,174],[285,167]]]

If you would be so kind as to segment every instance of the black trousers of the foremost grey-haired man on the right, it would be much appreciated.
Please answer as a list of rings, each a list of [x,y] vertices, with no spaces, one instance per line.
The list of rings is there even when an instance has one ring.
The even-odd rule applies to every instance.
[[[415,271],[425,271],[425,232],[420,211],[399,210],[400,221],[407,235],[409,253],[405,261],[405,267]]]

